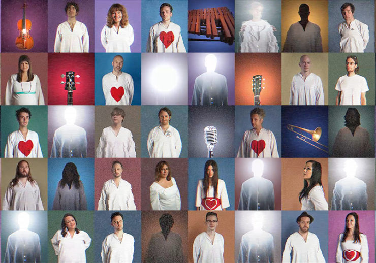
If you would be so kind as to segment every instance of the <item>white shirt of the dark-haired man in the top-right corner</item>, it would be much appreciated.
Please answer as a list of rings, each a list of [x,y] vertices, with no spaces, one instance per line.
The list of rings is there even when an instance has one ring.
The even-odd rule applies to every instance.
[[[338,25],[338,32],[341,35],[339,47],[341,52],[363,53],[369,41],[368,25],[354,19],[347,25],[343,21]]]

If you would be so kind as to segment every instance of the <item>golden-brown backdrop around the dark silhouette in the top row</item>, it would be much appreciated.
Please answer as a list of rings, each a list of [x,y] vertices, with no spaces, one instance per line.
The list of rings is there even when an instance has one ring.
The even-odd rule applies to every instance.
[[[321,0],[307,0],[304,2],[295,0],[282,0],[282,47],[286,41],[287,31],[290,26],[300,21],[298,14],[299,6],[301,4],[309,6],[310,15],[308,20],[317,24],[321,31],[321,40],[323,43],[323,52],[328,52],[328,1]],[[331,13],[332,15],[332,13]]]

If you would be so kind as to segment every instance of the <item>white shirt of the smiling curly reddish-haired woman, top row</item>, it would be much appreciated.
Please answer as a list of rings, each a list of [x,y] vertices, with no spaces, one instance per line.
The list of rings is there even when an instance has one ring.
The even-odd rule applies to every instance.
[[[101,32],[102,46],[106,52],[131,52],[133,40],[133,27],[130,24],[124,28],[119,25],[118,30],[114,25],[111,28],[105,25]]]

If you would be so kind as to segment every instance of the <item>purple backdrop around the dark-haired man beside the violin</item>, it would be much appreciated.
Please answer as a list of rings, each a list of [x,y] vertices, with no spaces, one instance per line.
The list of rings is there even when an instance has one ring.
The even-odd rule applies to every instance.
[[[48,1],[48,14],[50,14],[48,16],[48,52],[54,52],[57,26],[68,19],[67,13],[64,11],[67,2],[61,0]],[[89,52],[94,52],[94,0],[76,0],[75,2],[80,9],[76,19],[86,25],[89,34]],[[45,33],[46,29],[43,32]]]

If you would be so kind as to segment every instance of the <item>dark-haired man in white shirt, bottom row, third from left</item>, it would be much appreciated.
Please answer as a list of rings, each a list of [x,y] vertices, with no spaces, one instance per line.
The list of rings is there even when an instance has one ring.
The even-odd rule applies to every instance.
[[[135,251],[135,239],[123,232],[123,215],[120,212],[111,214],[111,225],[114,233],[108,235],[102,242],[102,263],[132,262]]]

